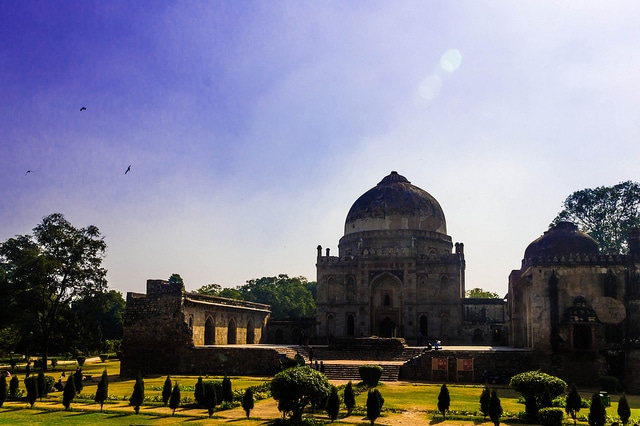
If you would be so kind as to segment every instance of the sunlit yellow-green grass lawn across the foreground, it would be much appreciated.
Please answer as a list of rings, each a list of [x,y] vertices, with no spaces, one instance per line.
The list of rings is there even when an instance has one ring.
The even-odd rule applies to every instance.
[[[47,371],[47,375],[56,379],[64,371],[65,375],[72,374],[77,365],[73,363],[59,364],[58,368]],[[104,369],[109,375],[109,400],[104,405],[104,413],[100,413],[100,406],[93,401],[96,387]],[[213,418],[209,419],[204,409],[193,404],[193,388],[197,376],[171,376],[183,389],[181,392],[182,404],[176,410],[175,416],[169,407],[164,407],[161,402],[162,386],[166,376],[152,376],[144,378],[145,403],[141,407],[140,414],[134,414],[133,408],[128,405],[128,398],[133,391],[133,379],[121,380],[119,377],[120,363],[117,360],[99,360],[87,362],[83,367],[83,373],[91,376],[91,379],[83,382],[80,395],[71,404],[71,410],[65,411],[62,406],[62,392],[54,392],[42,401],[36,401],[34,408],[28,408],[24,400],[6,401],[0,408],[0,424],[31,424],[31,425],[76,425],[98,424],[109,425],[168,425],[188,422],[192,425],[233,423],[234,425],[265,425],[270,420],[281,417],[277,409],[277,402],[269,398],[257,401],[251,418],[246,419],[242,408],[237,407],[228,410],[216,411]],[[22,379],[24,372],[19,372],[20,387],[24,389]],[[204,380],[222,380],[222,377],[203,377]],[[259,377],[231,377],[234,390],[244,389],[248,386],[263,384],[270,378]],[[344,382],[339,382],[344,383]],[[339,384],[336,383],[336,384]],[[479,425],[491,423],[484,421],[479,413],[479,398],[482,386],[447,384],[451,397],[450,412],[447,421],[442,422],[441,415],[437,412],[437,400],[441,384],[418,382],[384,382],[378,389],[384,397],[383,415],[376,424],[379,425],[413,425],[413,424],[457,424]],[[518,402],[519,395],[508,387],[496,388],[504,410],[503,423],[517,423],[523,425],[517,414],[524,410],[524,406]],[[590,399],[594,390],[581,390],[585,399]],[[346,412],[341,411],[338,422],[349,425],[365,425],[369,421],[366,415],[366,392],[357,396],[357,407],[353,414],[346,417]],[[617,402],[619,395],[611,396],[611,407],[607,408],[609,423],[617,420]],[[631,424],[640,421],[640,396],[628,395],[631,406]],[[586,425],[588,409],[582,409],[579,413],[579,424]],[[314,416],[328,422],[324,412],[317,412]],[[570,418],[565,418],[565,424],[573,424]]]

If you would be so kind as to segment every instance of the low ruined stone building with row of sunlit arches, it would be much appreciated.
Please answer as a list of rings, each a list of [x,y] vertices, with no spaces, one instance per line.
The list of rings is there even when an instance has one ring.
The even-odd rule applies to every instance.
[[[181,283],[147,280],[146,294],[127,293],[121,375],[131,377],[137,371],[230,372],[239,368],[265,374],[261,370],[264,366],[271,372],[267,359],[272,358],[276,365],[277,354],[261,360],[220,358],[219,352],[213,356],[209,350],[207,356],[213,345],[263,342],[269,314],[269,306],[260,303],[187,293]]]

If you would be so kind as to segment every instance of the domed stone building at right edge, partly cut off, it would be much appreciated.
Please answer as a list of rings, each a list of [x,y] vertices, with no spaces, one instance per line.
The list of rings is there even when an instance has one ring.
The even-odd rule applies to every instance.
[[[570,222],[552,226],[509,276],[510,344],[529,348],[547,371],[576,383],[602,375],[640,390],[640,234],[628,254],[602,254]]]

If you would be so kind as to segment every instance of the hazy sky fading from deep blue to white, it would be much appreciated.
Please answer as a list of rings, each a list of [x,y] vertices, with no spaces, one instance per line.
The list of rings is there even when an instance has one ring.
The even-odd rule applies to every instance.
[[[467,289],[506,294],[568,195],[639,179],[638,16],[0,0],[0,241],[52,213],[95,225],[123,293],[173,273],[188,290],[313,281],[316,247],[337,254],[353,202],[397,171],[464,243]]]

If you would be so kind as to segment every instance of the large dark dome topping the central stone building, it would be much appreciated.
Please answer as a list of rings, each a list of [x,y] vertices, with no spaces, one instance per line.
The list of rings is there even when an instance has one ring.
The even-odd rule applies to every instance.
[[[353,203],[344,234],[402,229],[447,233],[438,201],[404,176],[391,172]]]

